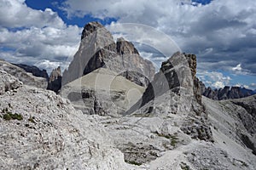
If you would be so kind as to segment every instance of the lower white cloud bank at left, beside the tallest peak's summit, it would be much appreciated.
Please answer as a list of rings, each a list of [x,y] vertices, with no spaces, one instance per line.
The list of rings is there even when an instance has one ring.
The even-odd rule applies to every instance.
[[[63,29],[31,27],[21,31],[2,29],[0,31],[0,43],[3,44],[4,48],[15,50],[3,51],[0,48],[0,57],[10,62],[30,65],[34,65],[42,59],[65,62],[79,48],[79,32],[78,26],[67,26]],[[7,54],[12,55],[12,57],[4,57]]]

